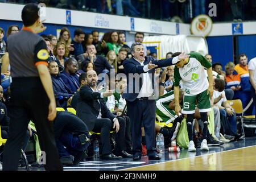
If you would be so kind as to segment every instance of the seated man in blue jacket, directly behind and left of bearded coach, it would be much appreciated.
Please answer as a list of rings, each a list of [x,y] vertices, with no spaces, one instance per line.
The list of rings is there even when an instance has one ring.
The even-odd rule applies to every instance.
[[[76,75],[77,61],[75,59],[69,58],[65,62],[64,66],[65,69],[63,72],[61,72],[60,77],[68,86],[69,90],[71,90],[72,94],[74,94],[77,89],[79,89],[79,76]]]

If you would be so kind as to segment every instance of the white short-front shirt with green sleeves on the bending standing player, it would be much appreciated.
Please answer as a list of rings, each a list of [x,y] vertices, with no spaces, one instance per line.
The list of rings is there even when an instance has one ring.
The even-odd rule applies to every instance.
[[[204,68],[212,67],[207,59],[200,53],[189,53],[189,61],[183,68],[174,68],[174,86],[183,82],[185,96],[195,96],[208,89],[209,82]]]

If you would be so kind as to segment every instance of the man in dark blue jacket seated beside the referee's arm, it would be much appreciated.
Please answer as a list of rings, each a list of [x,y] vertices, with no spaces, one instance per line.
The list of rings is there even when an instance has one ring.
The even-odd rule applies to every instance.
[[[51,61],[49,62],[48,67],[52,77],[53,92],[55,94],[57,105],[66,108],[67,101],[73,94],[59,75],[59,65],[55,61]]]

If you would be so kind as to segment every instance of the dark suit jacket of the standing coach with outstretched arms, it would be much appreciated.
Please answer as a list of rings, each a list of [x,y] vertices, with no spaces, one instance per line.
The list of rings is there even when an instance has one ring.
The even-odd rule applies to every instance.
[[[168,67],[172,65],[172,58],[155,60],[152,56],[145,56],[144,65],[148,64],[150,61],[152,61],[152,64],[158,65],[157,68]],[[133,74],[138,73],[139,75],[141,73],[145,73],[143,70],[144,66],[142,66],[137,60],[131,57],[131,59],[125,60],[123,62],[123,67],[125,68],[125,74],[127,77],[127,88],[126,88],[126,92],[123,93],[122,97],[125,98],[127,101],[133,102],[138,97],[139,91],[141,90],[142,83],[143,83],[143,76],[141,75],[141,78],[139,78],[138,80],[132,77],[129,78],[129,73],[133,73]],[[153,87],[152,89],[154,89],[155,69],[150,69],[148,73],[150,73],[150,75],[152,76],[152,87]],[[139,90],[136,90],[136,89],[139,89]]]

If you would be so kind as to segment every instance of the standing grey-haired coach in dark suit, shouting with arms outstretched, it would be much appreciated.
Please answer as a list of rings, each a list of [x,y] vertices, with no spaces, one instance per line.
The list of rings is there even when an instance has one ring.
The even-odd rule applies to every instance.
[[[185,59],[188,55],[156,61],[151,56],[144,56],[141,43],[131,46],[131,59],[123,62],[127,76],[127,88],[123,98],[127,101],[127,112],[131,120],[133,140],[133,160],[141,160],[141,126],[143,122],[147,155],[149,160],[160,160],[155,148],[155,68],[167,67]],[[138,73],[138,74],[136,74]],[[157,86],[155,86],[158,88]]]

